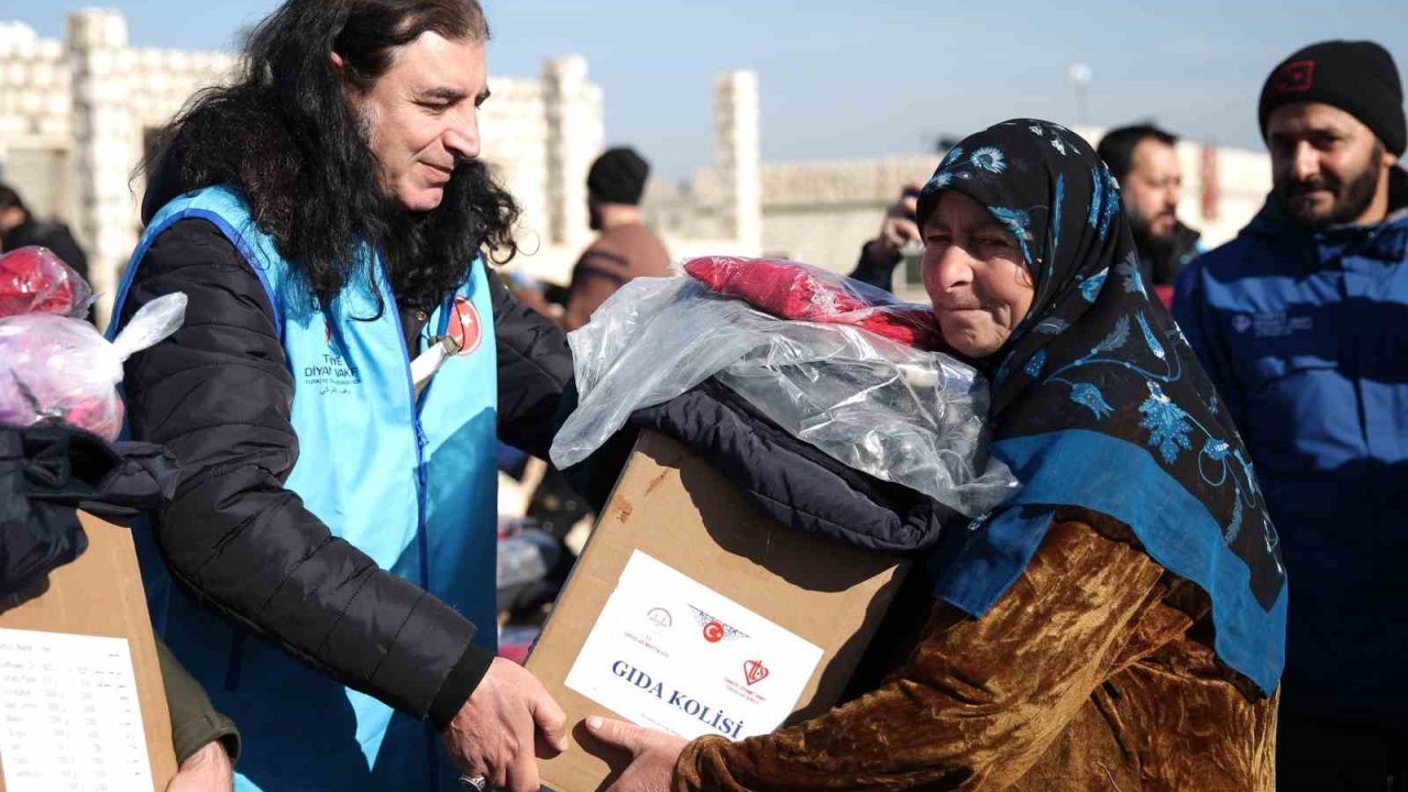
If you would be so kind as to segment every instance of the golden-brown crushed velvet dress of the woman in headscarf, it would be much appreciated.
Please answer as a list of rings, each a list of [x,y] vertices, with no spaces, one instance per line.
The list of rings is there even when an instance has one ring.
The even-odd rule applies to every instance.
[[[1124,524],[1063,509],[973,620],[936,605],[879,689],[773,734],[686,747],[686,791],[1266,791],[1276,698],[1214,654],[1207,598]]]

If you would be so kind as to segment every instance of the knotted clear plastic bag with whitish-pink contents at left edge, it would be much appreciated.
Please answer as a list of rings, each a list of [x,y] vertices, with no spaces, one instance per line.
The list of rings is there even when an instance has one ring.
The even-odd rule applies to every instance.
[[[107,440],[122,430],[122,361],[175,333],[186,295],[142,306],[108,342],[92,324],[30,313],[0,318],[0,424],[62,420]]]

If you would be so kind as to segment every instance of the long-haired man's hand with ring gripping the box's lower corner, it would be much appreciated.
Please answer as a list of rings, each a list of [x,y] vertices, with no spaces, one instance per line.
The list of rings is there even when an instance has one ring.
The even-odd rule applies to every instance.
[[[567,716],[532,674],[496,657],[442,734],[470,776],[510,792],[538,792],[538,762],[567,750]]]

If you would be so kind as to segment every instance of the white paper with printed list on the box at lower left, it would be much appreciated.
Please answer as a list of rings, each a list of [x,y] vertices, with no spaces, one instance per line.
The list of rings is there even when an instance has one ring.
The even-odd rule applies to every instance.
[[[0,629],[6,792],[151,792],[124,638]]]

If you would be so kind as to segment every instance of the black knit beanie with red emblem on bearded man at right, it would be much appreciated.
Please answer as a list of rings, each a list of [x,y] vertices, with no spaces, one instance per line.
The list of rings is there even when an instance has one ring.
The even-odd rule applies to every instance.
[[[1262,87],[1262,138],[1271,111],[1291,101],[1332,104],[1359,118],[1391,154],[1408,147],[1404,89],[1388,51],[1373,41],[1322,41],[1291,55]]]

